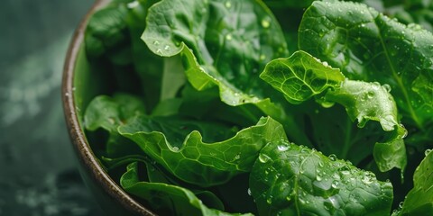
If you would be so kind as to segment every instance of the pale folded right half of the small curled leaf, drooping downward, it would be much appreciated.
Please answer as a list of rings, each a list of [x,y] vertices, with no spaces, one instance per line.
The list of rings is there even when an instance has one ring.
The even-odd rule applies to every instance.
[[[359,127],[372,120],[379,121],[382,130],[392,131],[389,138],[377,142],[373,149],[373,157],[382,172],[393,167],[404,169],[407,164],[403,138],[408,131],[397,120],[397,107],[389,91],[388,85],[346,80],[325,95],[326,100],[344,105],[350,118],[357,119]]]

